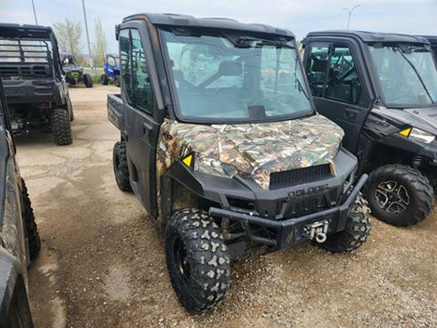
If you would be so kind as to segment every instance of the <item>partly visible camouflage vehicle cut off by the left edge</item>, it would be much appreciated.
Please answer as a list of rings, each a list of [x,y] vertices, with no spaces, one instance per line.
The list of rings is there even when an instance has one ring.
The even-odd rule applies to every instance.
[[[0,79],[0,327],[33,327],[27,266],[41,247]]]

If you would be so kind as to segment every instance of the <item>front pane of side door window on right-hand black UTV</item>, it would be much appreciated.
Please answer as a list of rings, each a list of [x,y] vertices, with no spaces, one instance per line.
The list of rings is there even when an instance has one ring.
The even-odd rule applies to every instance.
[[[329,60],[326,86],[327,98],[358,104],[361,95],[361,83],[349,47],[334,46]]]

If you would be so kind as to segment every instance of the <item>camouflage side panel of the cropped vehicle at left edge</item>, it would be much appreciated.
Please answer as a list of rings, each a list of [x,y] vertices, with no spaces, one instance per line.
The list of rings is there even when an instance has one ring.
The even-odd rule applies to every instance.
[[[10,143],[11,145],[12,143]],[[0,239],[3,246],[20,261],[21,267],[26,268],[26,251],[24,244],[24,226],[21,217],[21,183],[17,174],[14,151],[9,149],[6,167],[6,193],[3,213],[3,225],[0,227]],[[24,270],[25,271],[25,270]]]

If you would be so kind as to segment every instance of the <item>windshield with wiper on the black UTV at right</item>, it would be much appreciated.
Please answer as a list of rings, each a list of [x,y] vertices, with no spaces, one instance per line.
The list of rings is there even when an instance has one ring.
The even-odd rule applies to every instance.
[[[370,45],[387,107],[436,104],[437,69],[429,48],[413,45]]]

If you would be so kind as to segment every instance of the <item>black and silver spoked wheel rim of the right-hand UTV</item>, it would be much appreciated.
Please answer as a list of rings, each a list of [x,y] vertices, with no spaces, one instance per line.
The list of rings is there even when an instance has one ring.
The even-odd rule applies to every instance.
[[[381,182],[375,189],[375,200],[388,213],[405,211],[410,204],[410,196],[405,186],[393,180]]]

